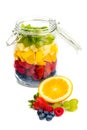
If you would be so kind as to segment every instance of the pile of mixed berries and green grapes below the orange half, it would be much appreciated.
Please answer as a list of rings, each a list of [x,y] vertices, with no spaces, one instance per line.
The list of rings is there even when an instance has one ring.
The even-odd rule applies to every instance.
[[[33,100],[29,100],[28,102],[30,103],[29,106],[31,108],[37,110],[39,119],[46,119],[47,121],[51,121],[54,116],[61,116],[64,113],[64,110],[74,112],[78,108],[78,99],[76,98],[69,101],[49,104],[39,96],[39,93],[35,94]]]

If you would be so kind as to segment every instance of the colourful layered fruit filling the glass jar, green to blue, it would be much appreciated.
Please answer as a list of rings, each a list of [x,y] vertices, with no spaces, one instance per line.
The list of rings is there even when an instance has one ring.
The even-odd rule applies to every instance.
[[[20,29],[14,50],[16,78],[21,84],[37,86],[41,80],[56,73],[58,48],[55,36],[47,26],[22,23]],[[48,33],[43,34],[44,30]]]

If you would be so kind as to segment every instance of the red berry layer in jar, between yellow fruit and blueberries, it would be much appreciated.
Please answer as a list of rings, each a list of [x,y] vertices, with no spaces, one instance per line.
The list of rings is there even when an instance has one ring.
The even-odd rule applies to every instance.
[[[45,65],[33,65],[21,60],[15,60],[14,68],[17,72],[16,74],[23,75],[26,78],[31,77],[34,80],[40,80],[48,77],[56,70],[56,61],[46,62]]]

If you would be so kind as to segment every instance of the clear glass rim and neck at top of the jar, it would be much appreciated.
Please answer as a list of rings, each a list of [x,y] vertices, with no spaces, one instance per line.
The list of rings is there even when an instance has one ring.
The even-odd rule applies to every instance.
[[[41,27],[40,28],[40,33],[38,35],[45,35],[48,33],[52,33],[53,31],[56,30],[57,28],[57,24],[56,24],[56,20],[53,20],[51,18],[32,18],[32,19],[20,19],[16,22],[15,25],[15,31],[17,33],[22,33],[22,34],[27,34],[27,35],[37,35],[37,32],[33,31],[35,30],[35,28],[29,28],[29,29],[22,29],[21,25],[25,24],[25,25],[31,25],[35,27]],[[47,26],[47,28],[45,28]]]

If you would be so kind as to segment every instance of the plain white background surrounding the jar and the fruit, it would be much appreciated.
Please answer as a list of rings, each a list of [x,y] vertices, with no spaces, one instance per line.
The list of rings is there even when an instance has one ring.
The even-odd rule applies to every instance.
[[[13,48],[7,47],[15,22],[23,17],[51,17],[61,23],[79,41],[82,50],[76,52],[58,36],[58,75],[73,82],[70,98],[79,99],[76,112],[65,112],[52,121],[40,121],[28,108],[37,88],[16,82],[13,68]],[[87,129],[87,3],[86,0],[3,0],[0,1],[0,130],[73,130]]]

